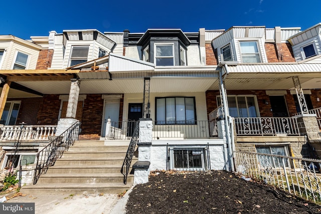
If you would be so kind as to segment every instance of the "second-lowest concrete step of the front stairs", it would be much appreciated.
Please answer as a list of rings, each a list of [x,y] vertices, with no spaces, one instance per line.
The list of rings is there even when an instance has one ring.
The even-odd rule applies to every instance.
[[[118,173],[72,173],[52,174],[46,173],[40,176],[37,183],[120,183],[124,175]],[[133,182],[133,176],[127,177],[127,182]]]

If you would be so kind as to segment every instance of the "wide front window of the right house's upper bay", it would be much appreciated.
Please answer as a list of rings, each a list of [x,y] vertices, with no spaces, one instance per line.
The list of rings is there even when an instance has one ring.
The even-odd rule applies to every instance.
[[[257,42],[240,42],[241,56],[243,63],[260,63],[261,57],[257,48]]]

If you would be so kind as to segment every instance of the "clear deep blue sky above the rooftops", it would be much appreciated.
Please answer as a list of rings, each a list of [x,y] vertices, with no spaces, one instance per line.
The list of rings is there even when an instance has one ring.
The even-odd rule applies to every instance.
[[[148,28],[180,28],[184,32],[232,26],[301,27],[321,23],[321,0],[243,1],[3,1],[0,35],[22,39],[49,31],[97,29],[100,32],[145,32]]]

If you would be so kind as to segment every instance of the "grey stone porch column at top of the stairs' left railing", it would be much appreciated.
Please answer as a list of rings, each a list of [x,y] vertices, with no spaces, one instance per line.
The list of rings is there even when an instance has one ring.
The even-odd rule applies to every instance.
[[[80,90],[80,80],[71,79],[66,118],[76,118]]]

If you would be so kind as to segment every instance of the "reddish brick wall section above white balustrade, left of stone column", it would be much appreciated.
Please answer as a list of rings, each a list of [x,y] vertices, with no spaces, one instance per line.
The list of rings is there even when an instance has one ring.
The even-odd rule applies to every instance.
[[[39,125],[57,125],[61,100],[59,95],[45,95],[40,103],[37,121]]]

